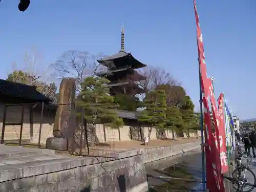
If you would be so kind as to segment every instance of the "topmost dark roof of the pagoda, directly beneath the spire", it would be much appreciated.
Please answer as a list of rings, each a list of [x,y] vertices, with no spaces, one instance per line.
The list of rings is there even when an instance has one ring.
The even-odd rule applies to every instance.
[[[133,69],[146,67],[145,64],[135,59],[131,53],[126,53],[125,51],[119,51],[114,55],[106,56],[97,61],[110,69],[123,68],[125,66],[132,67]]]

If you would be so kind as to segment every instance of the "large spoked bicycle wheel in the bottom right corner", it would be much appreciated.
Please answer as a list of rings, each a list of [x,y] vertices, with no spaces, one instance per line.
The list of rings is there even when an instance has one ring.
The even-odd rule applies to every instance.
[[[237,167],[236,169],[233,170],[232,172],[232,178],[234,179],[239,179],[240,177],[245,178],[247,183],[251,183],[256,185],[256,176],[252,172],[252,170],[249,167]],[[241,186],[241,184],[240,184]],[[242,190],[241,192],[250,192],[253,190],[254,187],[248,186],[248,185],[242,185]],[[239,191],[238,190],[238,183],[236,185],[233,184],[233,189],[234,191]]]

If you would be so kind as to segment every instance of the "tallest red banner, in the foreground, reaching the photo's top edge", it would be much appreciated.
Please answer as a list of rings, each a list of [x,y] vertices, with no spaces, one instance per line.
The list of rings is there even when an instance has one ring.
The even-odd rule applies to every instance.
[[[206,63],[204,57],[204,48],[203,48],[203,38],[201,33],[201,28],[199,25],[199,17],[197,13],[196,2],[194,0],[194,9],[196,16],[196,24],[197,24],[197,45],[198,45],[198,56],[199,56],[199,65],[200,65],[200,75],[201,75],[201,87],[203,91],[203,110],[204,110],[204,122],[205,122],[205,133],[206,133],[206,142],[208,143],[208,147],[206,147],[206,170],[207,170],[207,188],[209,192],[225,192],[224,182],[221,173],[221,161],[220,161],[220,153],[218,150],[218,146],[220,146],[219,141],[219,130],[218,130],[218,118],[217,118],[217,109],[216,109],[216,101],[212,89],[211,79],[207,78],[206,74]],[[217,145],[215,143],[214,134],[211,130],[211,117],[208,106],[208,98],[211,101],[211,110],[212,115],[215,121],[215,130],[217,136]],[[210,162],[209,162],[210,161]],[[215,181],[215,182],[214,182]]]

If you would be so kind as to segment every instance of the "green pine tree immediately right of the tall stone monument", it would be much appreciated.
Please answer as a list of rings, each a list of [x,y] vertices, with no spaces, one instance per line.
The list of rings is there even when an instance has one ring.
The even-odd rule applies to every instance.
[[[123,120],[118,116],[115,109],[114,97],[111,96],[110,89],[105,86],[109,81],[100,77],[87,77],[81,83],[78,106],[85,109],[84,118],[93,125],[92,143],[94,146],[96,135],[96,124],[116,128],[123,124]]]

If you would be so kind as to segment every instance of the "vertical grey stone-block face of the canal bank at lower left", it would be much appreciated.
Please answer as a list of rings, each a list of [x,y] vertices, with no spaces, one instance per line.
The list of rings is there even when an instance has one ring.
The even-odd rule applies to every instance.
[[[19,171],[0,167],[0,191],[144,192],[148,186],[142,157],[136,155],[100,164],[95,158],[49,161],[50,164],[20,167]]]

